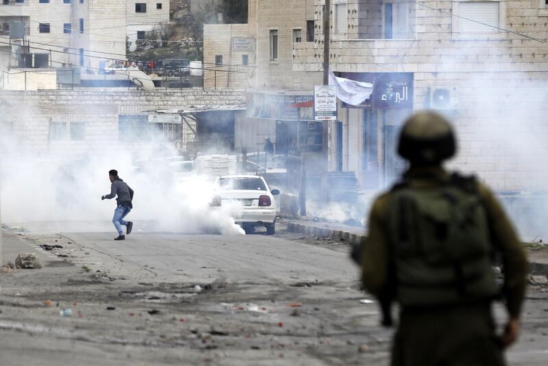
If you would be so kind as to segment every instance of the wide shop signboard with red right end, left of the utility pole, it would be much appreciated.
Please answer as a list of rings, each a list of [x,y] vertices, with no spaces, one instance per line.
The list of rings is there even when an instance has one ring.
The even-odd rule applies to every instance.
[[[247,94],[246,114],[249,118],[272,118],[278,120],[312,120],[314,96],[263,94],[258,92]],[[299,114],[299,115],[297,115]]]

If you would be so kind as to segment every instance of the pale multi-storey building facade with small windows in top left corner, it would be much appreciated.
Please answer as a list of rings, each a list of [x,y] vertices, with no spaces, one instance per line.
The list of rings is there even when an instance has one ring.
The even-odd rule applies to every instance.
[[[168,22],[167,0],[5,0],[0,67],[80,66],[97,73],[110,60],[125,60],[126,40],[135,44]]]

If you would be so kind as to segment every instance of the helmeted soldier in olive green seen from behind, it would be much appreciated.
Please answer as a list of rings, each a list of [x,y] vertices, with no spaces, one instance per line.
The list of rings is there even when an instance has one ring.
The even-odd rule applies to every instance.
[[[382,302],[388,294],[399,303],[392,365],[504,365],[502,351],[518,337],[525,251],[493,193],[443,168],[455,152],[445,117],[415,114],[398,146],[409,169],[371,208],[362,282]],[[501,290],[494,254],[503,263]],[[508,311],[501,336],[491,313],[499,295]]]

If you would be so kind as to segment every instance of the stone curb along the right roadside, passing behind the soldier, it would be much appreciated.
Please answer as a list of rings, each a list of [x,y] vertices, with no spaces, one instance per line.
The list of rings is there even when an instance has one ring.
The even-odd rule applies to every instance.
[[[365,235],[350,233],[349,231],[334,230],[332,228],[323,228],[307,224],[297,224],[290,222],[287,226],[288,231],[293,233],[303,233],[309,236],[329,237],[335,241],[343,241],[347,244],[360,244]],[[529,274],[548,276],[548,263],[529,262]]]

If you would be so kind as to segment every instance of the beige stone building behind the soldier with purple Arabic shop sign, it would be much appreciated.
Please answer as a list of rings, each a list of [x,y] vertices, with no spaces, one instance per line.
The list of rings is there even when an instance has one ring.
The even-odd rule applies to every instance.
[[[403,120],[415,110],[432,108],[456,125],[460,150],[451,161],[453,168],[477,172],[506,194],[546,190],[545,1],[331,3],[332,70],[374,87],[371,99],[362,105],[339,103],[336,121],[316,122],[316,129],[323,130],[316,131],[316,143],[323,135],[329,170],[356,172],[365,191],[386,187],[405,168],[395,153]],[[321,84],[323,4],[323,0],[249,1],[249,35],[256,40],[257,70],[248,100],[258,94],[278,95],[270,100],[260,96],[266,102],[248,105],[248,112],[260,110],[266,115],[266,107],[279,103],[279,94],[312,95],[314,85]],[[294,98],[289,100],[286,111]],[[310,115],[301,107],[300,114]],[[271,114],[262,133],[276,134],[284,119],[308,129],[306,116],[297,118],[295,111],[292,115]],[[299,142],[306,144],[309,138],[300,135]]]

